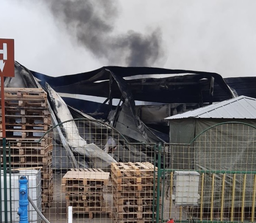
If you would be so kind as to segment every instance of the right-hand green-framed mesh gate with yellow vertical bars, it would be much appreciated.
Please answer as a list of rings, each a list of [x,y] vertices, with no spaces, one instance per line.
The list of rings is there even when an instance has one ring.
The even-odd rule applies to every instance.
[[[189,144],[164,144],[165,164],[159,170],[161,222],[168,218],[176,222],[255,222],[255,139],[255,126],[225,122],[201,132]],[[199,174],[197,204],[186,205],[184,198],[184,204],[177,205],[180,194],[175,197],[175,187],[181,186],[176,180],[180,171],[189,171],[189,179],[193,179],[193,171]],[[195,189],[187,183],[187,188]],[[182,192],[186,197],[186,191]]]

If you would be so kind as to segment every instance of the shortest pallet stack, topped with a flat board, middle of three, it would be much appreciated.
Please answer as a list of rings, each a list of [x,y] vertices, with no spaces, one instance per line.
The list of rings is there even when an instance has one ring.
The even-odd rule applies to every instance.
[[[109,173],[101,169],[71,169],[62,178],[62,191],[66,193],[67,207],[73,213],[111,213],[111,207],[104,198],[103,187],[109,181]]]

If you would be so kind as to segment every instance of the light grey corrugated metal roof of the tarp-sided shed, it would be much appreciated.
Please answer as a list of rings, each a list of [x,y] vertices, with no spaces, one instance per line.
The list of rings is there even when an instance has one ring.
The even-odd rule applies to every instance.
[[[239,96],[165,119],[184,118],[256,119],[256,99]]]

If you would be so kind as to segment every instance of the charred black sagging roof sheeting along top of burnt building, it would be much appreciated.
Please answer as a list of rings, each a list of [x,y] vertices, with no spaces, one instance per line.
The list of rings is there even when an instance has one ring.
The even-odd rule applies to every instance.
[[[102,67],[100,69],[75,75],[49,77],[31,71],[42,82],[47,82],[56,92],[109,96],[109,79],[111,76],[123,77],[137,75],[175,74],[167,78],[137,78],[126,80],[134,100],[161,103],[197,103],[218,102],[232,98],[232,92],[221,75],[211,72],[191,70],[171,70],[150,67]],[[189,74],[177,76],[177,74]],[[214,78],[214,94],[210,94],[210,82]],[[103,81],[105,80],[105,81]],[[102,81],[102,82],[99,82]],[[112,98],[120,98],[121,83],[115,79],[112,85]],[[43,83],[42,83],[43,85]]]

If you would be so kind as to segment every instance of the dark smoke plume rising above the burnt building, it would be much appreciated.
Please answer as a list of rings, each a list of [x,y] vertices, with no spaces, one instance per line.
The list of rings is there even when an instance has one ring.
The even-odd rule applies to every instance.
[[[163,56],[160,28],[149,34],[128,31],[114,35],[116,0],[44,0],[59,24],[97,58],[112,65],[153,66]],[[142,15],[143,16],[143,15]]]

